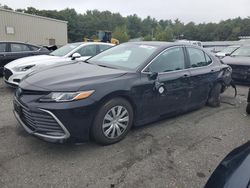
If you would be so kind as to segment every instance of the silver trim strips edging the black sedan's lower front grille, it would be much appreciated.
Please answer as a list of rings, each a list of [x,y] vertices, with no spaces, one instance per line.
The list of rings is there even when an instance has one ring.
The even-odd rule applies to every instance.
[[[23,104],[21,104],[16,97],[14,97],[14,100],[20,105],[22,106],[22,108],[29,110],[27,107],[25,107]],[[17,118],[18,122],[23,126],[23,128],[30,134],[42,137],[42,138],[48,138],[48,139],[53,139],[53,140],[64,140],[70,137],[70,133],[69,131],[66,129],[66,127],[63,125],[63,123],[49,110],[45,110],[42,108],[38,108],[39,110],[48,113],[50,116],[52,116],[52,118],[54,118],[54,120],[58,123],[58,125],[63,129],[65,135],[63,136],[50,136],[50,135],[46,135],[46,134],[40,134],[37,133],[35,131],[32,131],[30,128],[28,128],[25,123],[22,121],[22,119],[20,118],[19,114],[14,110],[14,115]]]

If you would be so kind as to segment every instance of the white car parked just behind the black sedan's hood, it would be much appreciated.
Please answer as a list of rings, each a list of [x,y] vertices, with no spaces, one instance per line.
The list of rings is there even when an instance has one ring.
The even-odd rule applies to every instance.
[[[84,61],[114,44],[102,42],[78,42],[67,44],[49,55],[37,55],[11,61],[4,66],[4,81],[10,86],[18,86],[20,81],[33,71],[60,63],[75,62],[73,59]]]

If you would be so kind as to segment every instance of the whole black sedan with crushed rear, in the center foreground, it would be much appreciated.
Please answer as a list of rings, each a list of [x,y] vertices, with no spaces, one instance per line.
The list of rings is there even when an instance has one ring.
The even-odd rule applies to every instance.
[[[15,94],[14,114],[47,141],[112,144],[132,126],[220,105],[231,68],[203,49],[180,43],[138,42],[85,62],[30,75]]]

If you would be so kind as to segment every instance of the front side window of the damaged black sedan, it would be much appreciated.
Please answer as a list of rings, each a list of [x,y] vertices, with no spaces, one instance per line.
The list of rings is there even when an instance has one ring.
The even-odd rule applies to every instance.
[[[170,72],[185,68],[184,52],[182,47],[166,50],[159,55],[148,68],[149,72]]]

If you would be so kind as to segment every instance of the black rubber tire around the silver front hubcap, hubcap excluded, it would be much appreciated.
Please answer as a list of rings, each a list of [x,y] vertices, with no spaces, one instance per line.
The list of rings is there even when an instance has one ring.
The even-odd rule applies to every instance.
[[[129,124],[127,126],[127,129],[123,132],[123,134],[121,136],[119,136],[118,138],[115,138],[115,139],[110,139],[104,135],[103,130],[102,130],[102,124],[103,124],[104,116],[114,106],[123,106],[127,109],[128,113],[129,113]],[[94,140],[98,144],[101,144],[101,145],[109,145],[109,144],[119,142],[129,132],[129,130],[132,126],[132,123],[133,123],[133,117],[134,117],[133,108],[132,108],[131,104],[126,99],[114,98],[114,99],[111,99],[111,100],[105,102],[100,107],[100,109],[97,112],[97,115],[95,117],[95,120],[93,122],[92,136],[93,136]]]

